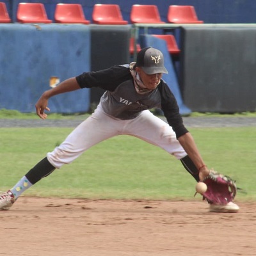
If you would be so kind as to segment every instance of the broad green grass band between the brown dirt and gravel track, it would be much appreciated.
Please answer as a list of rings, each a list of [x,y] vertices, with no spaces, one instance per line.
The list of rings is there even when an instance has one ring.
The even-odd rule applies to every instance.
[[[207,165],[237,180],[239,200],[255,200],[256,127],[194,128]],[[70,128],[0,128],[0,190],[11,188]],[[131,136],[116,136],[40,180],[24,195],[66,198],[193,199],[195,180],[180,161]]]

